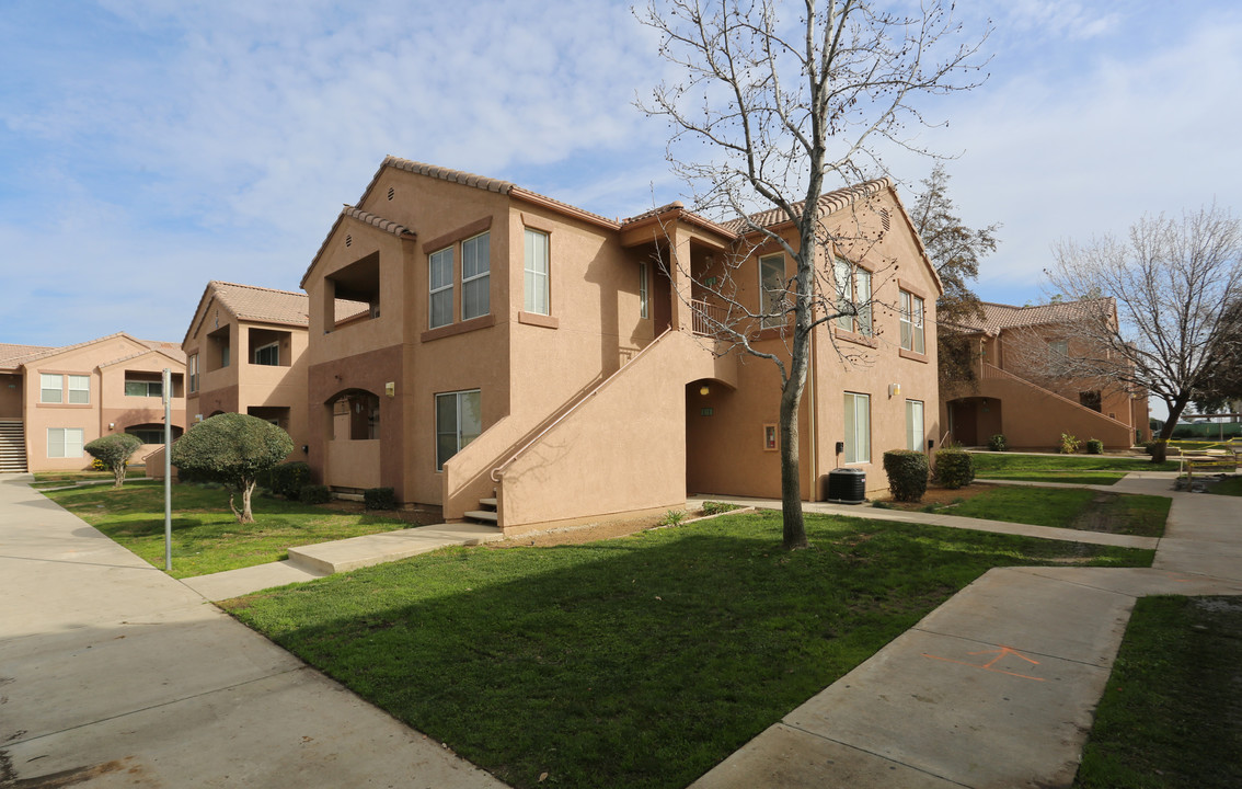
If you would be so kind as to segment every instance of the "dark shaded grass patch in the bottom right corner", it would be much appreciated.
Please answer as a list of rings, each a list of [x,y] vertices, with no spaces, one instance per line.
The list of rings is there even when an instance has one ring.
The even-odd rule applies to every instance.
[[[1240,634],[1240,598],[1139,599],[1074,787],[1242,787]]]

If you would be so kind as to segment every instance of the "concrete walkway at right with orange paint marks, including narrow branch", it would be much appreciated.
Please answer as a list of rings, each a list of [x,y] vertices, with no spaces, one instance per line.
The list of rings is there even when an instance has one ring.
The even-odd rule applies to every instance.
[[[1174,476],[1146,472],[1100,487],[1172,497],[1151,569],[990,570],[693,788],[1068,787],[1134,601],[1242,594],[1237,501],[1175,493]],[[895,512],[809,509],[883,519]],[[994,522],[974,524],[991,531]],[[1069,537],[1028,528],[1011,533]]]

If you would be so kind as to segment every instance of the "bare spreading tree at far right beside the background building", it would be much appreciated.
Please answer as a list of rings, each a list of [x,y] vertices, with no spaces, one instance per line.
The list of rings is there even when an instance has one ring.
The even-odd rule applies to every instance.
[[[1117,321],[1074,326],[1083,352],[1061,357],[1059,373],[1112,379],[1160,398],[1169,419],[1153,460],[1164,460],[1177,417],[1235,328],[1230,307],[1242,298],[1242,222],[1215,205],[1181,219],[1144,216],[1124,240],[1064,241],[1054,258],[1046,272],[1052,288],[1117,302]]]

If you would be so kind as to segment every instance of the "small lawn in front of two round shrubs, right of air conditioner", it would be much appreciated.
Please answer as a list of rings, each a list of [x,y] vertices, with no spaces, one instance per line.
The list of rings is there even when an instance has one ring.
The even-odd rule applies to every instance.
[[[1171,498],[1082,488],[995,486],[934,512],[1009,523],[1163,537]]]

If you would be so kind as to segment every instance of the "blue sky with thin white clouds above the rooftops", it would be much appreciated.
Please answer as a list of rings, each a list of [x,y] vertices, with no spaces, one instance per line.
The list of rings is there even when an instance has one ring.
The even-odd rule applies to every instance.
[[[920,142],[958,155],[966,222],[1004,225],[984,298],[1038,301],[1057,239],[1242,210],[1236,1],[963,5],[991,77]],[[604,0],[6,0],[0,342],[180,340],[207,278],[297,290],[386,154],[607,216],[678,199],[633,107],[676,78],[656,45]]]

